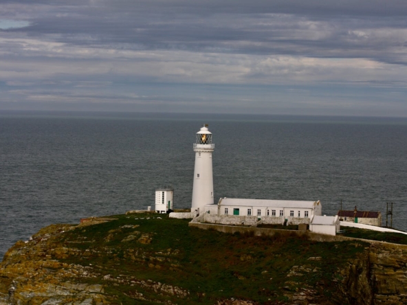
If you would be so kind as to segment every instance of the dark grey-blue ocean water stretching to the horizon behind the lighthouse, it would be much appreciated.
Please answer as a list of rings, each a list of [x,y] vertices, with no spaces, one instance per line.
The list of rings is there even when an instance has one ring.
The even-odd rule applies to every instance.
[[[0,258],[52,223],[153,207],[172,185],[190,207],[201,124],[213,133],[214,195],[320,200],[322,213],[394,203],[407,230],[407,119],[0,112]]]

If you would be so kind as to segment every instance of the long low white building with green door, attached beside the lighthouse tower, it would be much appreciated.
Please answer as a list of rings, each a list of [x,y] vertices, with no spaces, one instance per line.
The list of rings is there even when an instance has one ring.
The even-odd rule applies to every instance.
[[[221,198],[217,205],[206,205],[205,212],[217,216],[256,217],[265,224],[298,225],[322,214],[320,201]]]

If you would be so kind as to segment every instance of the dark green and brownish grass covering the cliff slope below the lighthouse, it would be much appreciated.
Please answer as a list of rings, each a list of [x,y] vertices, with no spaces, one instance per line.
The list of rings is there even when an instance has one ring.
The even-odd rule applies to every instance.
[[[173,300],[177,304],[214,304],[230,297],[267,304],[287,299],[284,286],[289,291],[317,287],[321,295],[336,291],[333,280],[338,277],[338,268],[347,266],[347,261],[366,247],[363,242],[312,242],[284,234],[272,237],[223,234],[188,227],[185,220],[157,216],[118,215],[113,216],[117,221],[68,231],[61,240],[63,245],[89,255],[69,256],[63,261],[102,267],[100,278],[106,274],[129,275],[190,291],[188,299]],[[123,227],[130,225],[137,227]],[[152,237],[151,243],[142,244],[137,238],[122,242],[130,235],[143,234]],[[321,260],[308,260],[316,256]],[[294,266],[317,271],[287,277]],[[100,278],[89,281],[97,282]],[[324,283],[323,288],[318,286],[320,282]],[[115,295],[122,304],[140,302],[129,297],[135,291],[160,302],[173,298],[140,286],[107,288],[107,293]]]

